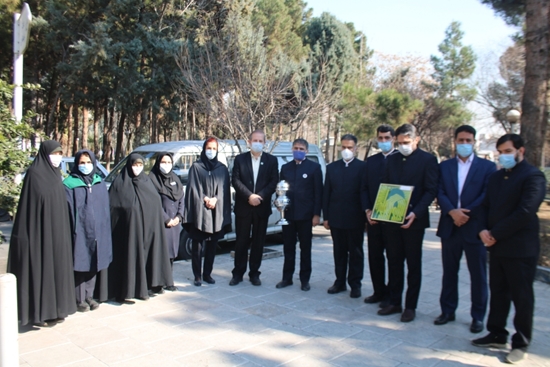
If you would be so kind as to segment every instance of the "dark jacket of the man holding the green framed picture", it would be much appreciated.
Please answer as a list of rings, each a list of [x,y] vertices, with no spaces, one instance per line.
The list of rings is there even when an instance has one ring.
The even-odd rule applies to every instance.
[[[407,215],[416,216],[411,229],[430,226],[429,206],[437,195],[439,167],[432,154],[416,149],[408,157],[396,153],[388,157],[384,183],[414,186]]]

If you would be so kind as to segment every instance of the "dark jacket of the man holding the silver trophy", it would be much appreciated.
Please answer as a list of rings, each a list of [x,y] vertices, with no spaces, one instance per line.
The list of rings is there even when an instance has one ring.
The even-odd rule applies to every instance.
[[[280,180],[289,184],[286,196],[290,205],[286,208],[288,220],[311,220],[321,215],[323,205],[323,172],[321,165],[309,159],[300,164],[292,160],[281,167]]]

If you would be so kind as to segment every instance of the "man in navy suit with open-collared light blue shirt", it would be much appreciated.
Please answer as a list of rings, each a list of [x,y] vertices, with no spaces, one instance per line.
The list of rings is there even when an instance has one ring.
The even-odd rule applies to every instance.
[[[479,239],[478,223],[471,218],[485,197],[489,176],[496,171],[493,162],[474,154],[476,130],[463,125],[455,130],[456,157],[439,165],[437,202],[441,216],[437,235],[441,237],[443,281],[441,286],[441,315],[434,324],[444,325],[455,320],[458,306],[458,270],[462,252],[470,272],[472,306],[470,331],[483,330],[487,311],[487,250]]]

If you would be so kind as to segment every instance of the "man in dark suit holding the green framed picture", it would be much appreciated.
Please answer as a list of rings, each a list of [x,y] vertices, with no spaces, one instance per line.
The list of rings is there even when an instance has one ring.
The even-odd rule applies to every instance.
[[[422,242],[424,231],[430,226],[428,207],[437,194],[439,169],[437,159],[418,148],[420,138],[410,124],[396,131],[399,153],[388,158],[384,183],[414,186],[405,217],[405,223],[382,223],[386,239],[390,304],[378,311],[379,315],[401,313],[401,322],[416,317],[416,306],[422,282]],[[372,208],[367,211],[371,220]],[[401,307],[404,288],[404,262],[407,261],[407,295],[405,310]]]

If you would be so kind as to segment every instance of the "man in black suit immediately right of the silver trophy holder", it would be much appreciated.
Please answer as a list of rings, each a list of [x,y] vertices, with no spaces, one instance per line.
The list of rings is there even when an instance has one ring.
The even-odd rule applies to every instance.
[[[347,281],[351,287],[350,297],[359,298],[365,261],[363,191],[366,163],[355,159],[355,136],[342,136],[341,147],[342,159],[327,166],[323,190],[323,225],[330,229],[332,236],[336,273],[336,280],[328,293],[346,291],[347,273]]]

